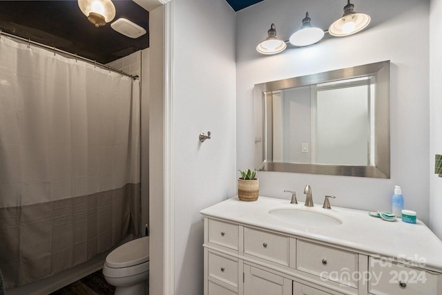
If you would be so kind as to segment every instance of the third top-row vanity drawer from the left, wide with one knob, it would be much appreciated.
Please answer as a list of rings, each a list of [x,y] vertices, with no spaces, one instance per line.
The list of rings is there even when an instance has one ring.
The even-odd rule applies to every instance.
[[[296,269],[347,287],[358,287],[354,276],[358,271],[358,254],[353,252],[297,240]]]

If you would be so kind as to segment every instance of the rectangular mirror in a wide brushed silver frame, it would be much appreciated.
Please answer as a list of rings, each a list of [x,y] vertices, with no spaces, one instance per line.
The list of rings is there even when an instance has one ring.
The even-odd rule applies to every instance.
[[[257,170],[390,178],[390,61],[254,92]]]

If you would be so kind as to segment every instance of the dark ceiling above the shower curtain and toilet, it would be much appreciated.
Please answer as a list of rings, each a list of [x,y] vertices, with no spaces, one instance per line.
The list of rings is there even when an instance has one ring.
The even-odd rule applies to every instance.
[[[0,1],[0,30],[107,64],[149,46],[148,11],[132,0],[113,3],[113,21],[129,19],[147,33],[132,39],[113,30],[109,23],[95,28],[76,0]]]

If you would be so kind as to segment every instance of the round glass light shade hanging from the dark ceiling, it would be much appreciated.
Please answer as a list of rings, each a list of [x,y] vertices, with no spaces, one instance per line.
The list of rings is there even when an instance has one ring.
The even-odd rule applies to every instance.
[[[115,6],[111,0],[78,0],[78,7],[97,28],[115,17]]]

